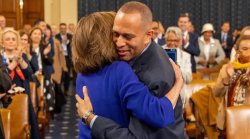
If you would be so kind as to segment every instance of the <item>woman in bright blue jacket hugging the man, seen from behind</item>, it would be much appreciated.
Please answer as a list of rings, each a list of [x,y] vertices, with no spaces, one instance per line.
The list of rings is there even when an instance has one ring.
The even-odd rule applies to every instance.
[[[118,61],[112,41],[114,17],[113,12],[96,12],[83,17],[77,25],[72,46],[74,67],[79,72],[77,94],[83,98],[82,88],[87,86],[94,113],[112,119],[122,127],[128,127],[130,114],[158,128],[173,123],[173,107],[178,97],[169,95],[179,96],[183,85],[178,66],[172,62],[176,83],[168,95],[162,98],[152,96],[131,67]],[[77,103],[76,106],[81,118],[86,115],[83,105]],[[87,113],[94,115],[92,111]],[[90,138],[87,125],[79,121],[78,127],[79,138]]]

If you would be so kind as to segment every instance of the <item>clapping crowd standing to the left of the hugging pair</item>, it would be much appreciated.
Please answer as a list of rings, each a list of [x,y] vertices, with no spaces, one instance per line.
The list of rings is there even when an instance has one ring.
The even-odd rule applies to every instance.
[[[67,31],[66,23],[59,25],[59,32],[55,25],[52,25],[52,31],[52,27],[42,20],[38,20],[33,27],[25,25],[17,31],[6,27],[3,15],[0,15],[0,20],[1,67],[6,68],[6,71],[1,71],[1,88],[8,84],[4,82],[6,77],[2,72],[8,73],[13,86],[24,88],[29,98],[31,138],[39,139],[38,116],[31,102],[30,82],[34,82],[38,88],[40,82],[37,76],[44,77],[42,90],[46,111],[51,118],[55,113],[60,113],[66,103],[65,96],[74,95],[69,90],[70,81],[75,80],[71,56],[73,34]],[[70,26],[72,28],[72,24]],[[3,91],[1,89],[1,93],[7,92],[5,87]]]

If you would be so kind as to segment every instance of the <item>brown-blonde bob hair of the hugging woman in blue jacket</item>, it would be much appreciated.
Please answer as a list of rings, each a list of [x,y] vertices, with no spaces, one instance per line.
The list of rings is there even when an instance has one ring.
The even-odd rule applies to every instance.
[[[72,43],[72,60],[77,72],[97,72],[118,59],[112,41],[114,18],[114,12],[95,12],[80,19]]]

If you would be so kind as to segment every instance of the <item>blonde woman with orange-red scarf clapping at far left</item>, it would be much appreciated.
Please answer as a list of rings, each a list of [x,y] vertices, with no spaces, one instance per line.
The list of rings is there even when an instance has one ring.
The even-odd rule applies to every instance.
[[[31,125],[31,138],[38,139],[39,131],[36,115],[30,99],[29,81],[33,74],[28,58],[18,46],[20,46],[20,36],[12,29],[4,30],[1,36],[3,44],[2,56],[4,63],[7,65],[12,83],[16,86],[25,88],[25,93],[28,94],[29,100],[29,122]]]

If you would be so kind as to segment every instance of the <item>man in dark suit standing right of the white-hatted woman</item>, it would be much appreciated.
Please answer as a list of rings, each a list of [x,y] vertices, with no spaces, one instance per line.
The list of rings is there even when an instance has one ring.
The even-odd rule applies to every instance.
[[[221,32],[215,34],[215,38],[221,43],[221,46],[226,54],[227,58],[230,58],[231,50],[233,48],[233,38],[229,34],[230,23],[224,22],[221,26]]]

